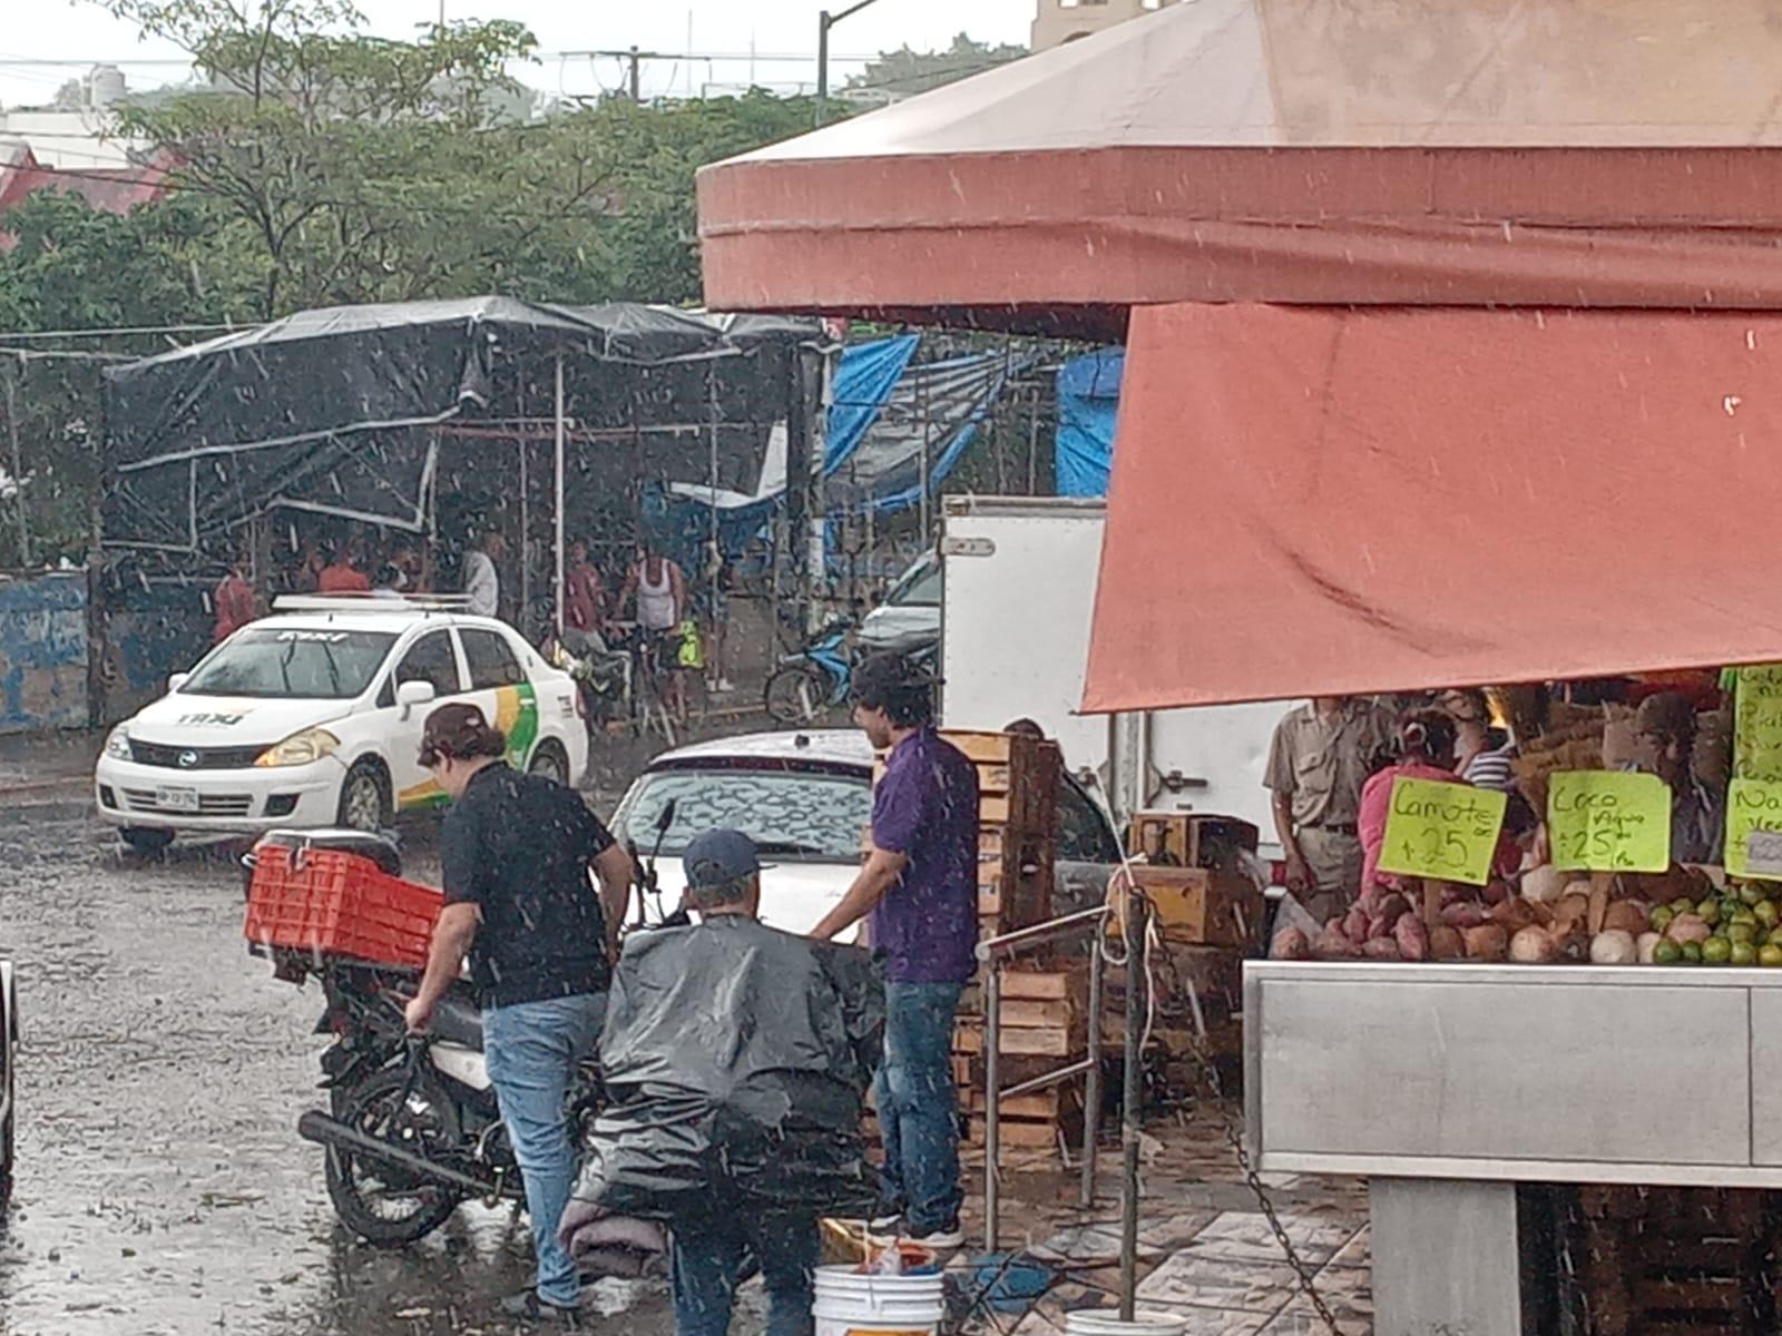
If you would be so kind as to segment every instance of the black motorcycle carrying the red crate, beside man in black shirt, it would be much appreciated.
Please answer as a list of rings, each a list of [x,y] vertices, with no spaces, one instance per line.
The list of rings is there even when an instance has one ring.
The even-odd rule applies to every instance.
[[[674,807],[658,819],[649,862],[633,859],[640,903],[656,885],[656,855]],[[273,832],[266,841],[339,848],[401,873],[394,841],[381,835],[308,830]],[[315,978],[323,987],[315,1033],[333,1035],[321,1058],[328,1112],[303,1113],[298,1135],[326,1151],[328,1199],[340,1224],[376,1247],[403,1247],[438,1229],[465,1201],[524,1206],[524,1181],[488,1079],[483,1017],[467,983],[440,999],[428,1033],[412,1035],[403,1008],[419,971],[280,948],[249,951],[273,958],[274,978]],[[581,1063],[565,1104],[579,1147],[602,1104],[595,1062]]]

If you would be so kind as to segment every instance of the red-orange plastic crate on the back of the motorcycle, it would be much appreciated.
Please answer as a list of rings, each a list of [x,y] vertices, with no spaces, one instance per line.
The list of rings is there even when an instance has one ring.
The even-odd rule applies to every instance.
[[[248,889],[249,942],[421,967],[444,896],[340,850],[264,846]]]

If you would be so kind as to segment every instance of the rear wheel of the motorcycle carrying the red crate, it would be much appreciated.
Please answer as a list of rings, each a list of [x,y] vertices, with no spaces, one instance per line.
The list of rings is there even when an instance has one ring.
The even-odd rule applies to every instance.
[[[337,1115],[358,1131],[426,1158],[460,1149],[458,1110],[438,1081],[403,1067],[374,1072],[340,1101]],[[417,1243],[458,1210],[463,1193],[397,1165],[330,1145],[328,1197],[340,1224],[374,1247]]]

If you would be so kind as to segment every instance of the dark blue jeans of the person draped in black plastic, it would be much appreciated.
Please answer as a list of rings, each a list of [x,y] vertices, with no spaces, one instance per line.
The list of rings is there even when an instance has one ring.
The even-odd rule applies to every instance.
[[[725,1336],[745,1252],[761,1263],[768,1290],[766,1336],[811,1336],[818,1259],[814,1215],[715,1211],[675,1222],[670,1245],[675,1336]]]

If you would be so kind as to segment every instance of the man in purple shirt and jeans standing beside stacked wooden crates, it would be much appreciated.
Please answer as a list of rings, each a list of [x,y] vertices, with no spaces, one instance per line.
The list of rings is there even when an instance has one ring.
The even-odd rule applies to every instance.
[[[889,748],[873,793],[873,850],[813,932],[829,939],[862,916],[886,967],[886,1055],[875,1103],[886,1147],[879,1238],[932,1249],[959,1231],[959,1112],[953,1014],[977,971],[978,773],[934,730],[934,682],[896,654],[854,675],[854,721]]]

